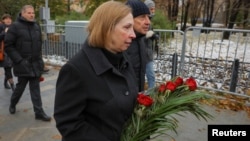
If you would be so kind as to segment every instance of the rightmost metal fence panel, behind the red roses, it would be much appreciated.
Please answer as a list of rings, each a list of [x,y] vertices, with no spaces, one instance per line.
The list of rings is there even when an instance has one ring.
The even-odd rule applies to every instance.
[[[206,89],[250,97],[250,30],[190,27],[184,35],[181,76],[195,77]]]

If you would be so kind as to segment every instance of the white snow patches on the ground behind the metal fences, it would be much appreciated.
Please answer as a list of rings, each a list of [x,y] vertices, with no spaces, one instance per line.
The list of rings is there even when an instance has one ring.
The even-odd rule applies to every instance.
[[[221,32],[210,33],[211,37],[207,36],[207,34],[195,34],[192,31],[189,31],[187,34],[185,55],[224,60],[238,58],[240,61],[250,62],[250,55],[248,55],[250,54],[249,36],[242,37],[237,35],[240,33],[236,33],[235,35],[231,35],[233,40],[221,40]],[[168,54],[174,52],[181,53],[183,46],[182,39],[173,39],[169,44],[161,44],[161,51]],[[62,66],[67,62],[65,57],[57,55],[45,56],[43,59],[47,64],[56,66]]]

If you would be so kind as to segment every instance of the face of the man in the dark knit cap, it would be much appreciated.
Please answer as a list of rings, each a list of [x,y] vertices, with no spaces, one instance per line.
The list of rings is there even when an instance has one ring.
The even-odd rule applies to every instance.
[[[140,15],[134,18],[134,30],[145,35],[149,30],[150,19],[148,14]]]

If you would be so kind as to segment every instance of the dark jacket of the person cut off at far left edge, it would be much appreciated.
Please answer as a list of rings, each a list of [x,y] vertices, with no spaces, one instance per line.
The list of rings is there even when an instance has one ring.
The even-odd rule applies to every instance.
[[[0,43],[4,41],[5,37],[5,28],[7,26],[5,24],[0,24]],[[0,67],[12,67],[12,61],[8,57],[7,53],[4,51],[4,60],[0,61]]]

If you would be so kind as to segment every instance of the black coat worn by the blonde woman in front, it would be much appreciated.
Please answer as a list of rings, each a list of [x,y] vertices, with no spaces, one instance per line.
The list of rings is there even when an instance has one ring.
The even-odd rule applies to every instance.
[[[54,118],[63,141],[120,140],[138,92],[127,57],[120,64],[118,71],[102,49],[85,43],[61,68]]]

